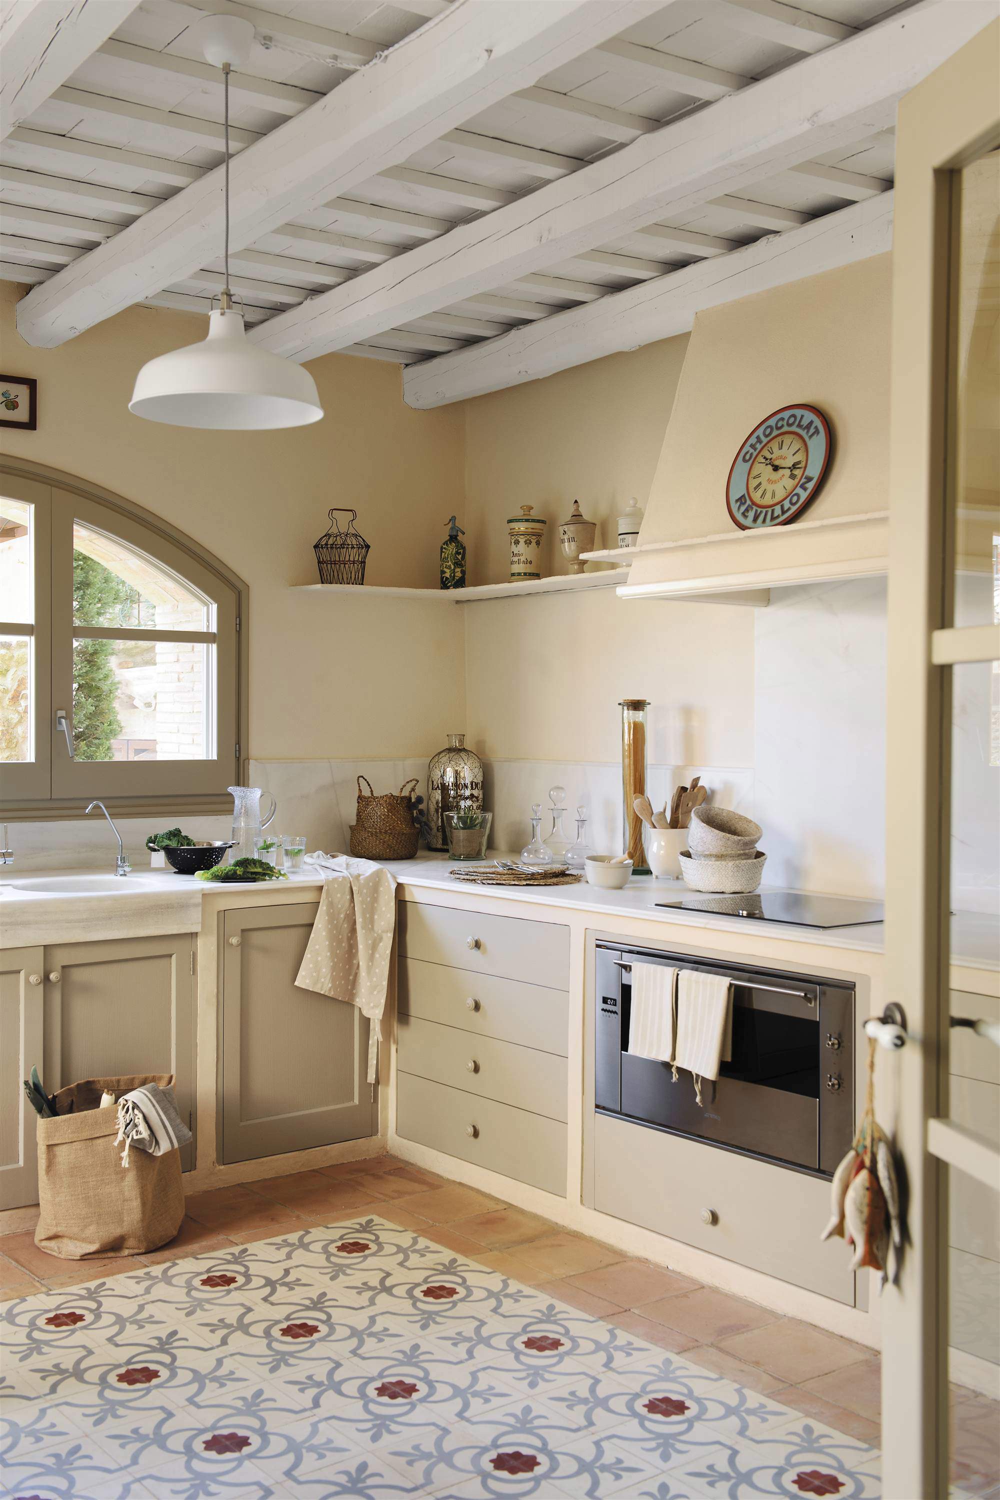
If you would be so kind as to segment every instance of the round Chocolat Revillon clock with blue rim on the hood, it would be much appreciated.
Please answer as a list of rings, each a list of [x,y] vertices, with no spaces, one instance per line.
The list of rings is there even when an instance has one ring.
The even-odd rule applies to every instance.
[[[831,429],[816,406],[781,406],[741,442],[726,483],[726,508],[741,531],[783,526],[819,495]]]

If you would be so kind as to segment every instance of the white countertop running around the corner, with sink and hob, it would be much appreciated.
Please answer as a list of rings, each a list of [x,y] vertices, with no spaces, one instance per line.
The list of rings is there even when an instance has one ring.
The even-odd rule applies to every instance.
[[[628,916],[658,926],[679,926],[717,932],[738,932],[747,927],[745,918],[717,916],[706,912],[663,909],[655,903],[669,898],[675,891],[685,891],[681,880],[654,880],[651,876],[633,876],[624,891],[604,891],[582,882],[579,885],[549,885],[541,888],[478,886],[453,880],[448,874],[451,861],[445,855],[420,854],[415,860],[387,861],[385,868],[400,884],[402,894],[418,890],[448,891],[463,897],[486,896],[496,902],[529,903],[552,910],[585,912],[594,916]],[[24,870],[13,866],[0,868],[0,946],[31,946],[51,942],[85,942],[94,938],[115,936],[162,936],[175,932],[199,932],[202,903],[205,898],[225,898],[226,904],[240,904],[247,894],[253,904],[271,892],[288,892],[298,886],[318,886],[322,876],[315,870],[303,870],[286,880],[261,885],[226,885],[198,880],[193,876],[175,874],[172,870],[135,868],[132,874],[114,882],[100,892],[42,892],[31,882],[49,876],[108,876],[103,867],[97,870]],[[19,885],[28,886],[18,890]],[[757,939],[766,936],[775,944],[810,942],[823,948],[844,948],[861,952],[882,952],[882,922],[862,927],[793,927],[784,922],[754,922]],[[952,964],[969,969],[1000,969],[1000,921],[976,912],[958,912],[952,916]]]

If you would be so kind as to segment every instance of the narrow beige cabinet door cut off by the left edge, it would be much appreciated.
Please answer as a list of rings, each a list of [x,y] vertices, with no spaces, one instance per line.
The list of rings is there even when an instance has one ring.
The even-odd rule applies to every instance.
[[[43,957],[40,948],[0,952],[0,1209],[37,1203],[37,1116],[21,1084],[33,1064],[43,1066]],[[42,1082],[51,1094],[48,1078]]]

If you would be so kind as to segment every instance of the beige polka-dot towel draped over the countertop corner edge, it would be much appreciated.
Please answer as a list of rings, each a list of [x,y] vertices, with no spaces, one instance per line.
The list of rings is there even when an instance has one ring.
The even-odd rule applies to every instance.
[[[367,1082],[375,1083],[396,932],[396,879],[372,860],[322,849],[303,862],[322,872],[324,885],[295,984],[357,1005],[367,1016]]]

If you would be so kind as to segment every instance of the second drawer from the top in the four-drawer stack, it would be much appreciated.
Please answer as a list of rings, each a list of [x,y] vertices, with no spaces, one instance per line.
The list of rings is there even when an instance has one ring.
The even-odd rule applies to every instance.
[[[561,1058],[568,1050],[565,990],[445,969],[423,958],[400,958],[397,996],[400,1016],[442,1022],[474,1036],[496,1036]]]

